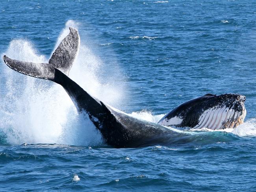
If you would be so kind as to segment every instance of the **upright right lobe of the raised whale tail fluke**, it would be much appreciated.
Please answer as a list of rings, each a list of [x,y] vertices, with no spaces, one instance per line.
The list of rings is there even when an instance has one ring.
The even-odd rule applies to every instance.
[[[75,28],[69,27],[69,35],[67,35],[56,48],[49,64],[59,69],[61,72],[69,75],[70,68],[76,58],[79,50],[80,37]]]

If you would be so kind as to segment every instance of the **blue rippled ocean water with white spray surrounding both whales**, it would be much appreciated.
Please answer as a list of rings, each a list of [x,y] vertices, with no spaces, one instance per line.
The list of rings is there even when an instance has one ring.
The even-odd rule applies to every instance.
[[[0,54],[48,62],[78,28],[70,78],[157,122],[206,93],[247,97],[236,129],[115,149],[50,81],[0,62],[0,191],[256,191],[256,3],[252,0],[4,0]]]

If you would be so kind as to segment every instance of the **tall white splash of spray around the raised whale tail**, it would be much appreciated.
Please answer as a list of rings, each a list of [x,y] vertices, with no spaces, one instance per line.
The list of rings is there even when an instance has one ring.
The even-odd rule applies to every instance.
[[[69,33],[69,26],[78,28],[79,25],[69,20],[55,47]],[[48,63],[48,58],[40,55],[32,43],[24,39],[11,41],[4,54],[22,61]],[[101,68],[102,61],[81,41],[70,78],[104,102],[118,102],[122,91],[111,82],[102,85],[98,81]],[[61,86],[24,76],[6,66],[2,69],[5,89],[0,94],[0,140],[5,137],[8,144],[102,144],[101,135],[87,114],[76,112],[74,104]]]

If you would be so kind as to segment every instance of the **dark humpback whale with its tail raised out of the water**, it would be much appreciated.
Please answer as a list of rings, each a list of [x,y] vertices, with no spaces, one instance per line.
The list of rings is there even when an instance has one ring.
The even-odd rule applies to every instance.
[[[94,98],[68,77],[80,46],[75,28],[59,44],[48,63],[32,63],[11,59],[4,55],[6,65],[28,76],[54,81],[69,94],[78,113],[85,111],[108,145],[115,148],[136,148],[156,144],[170,144],[172,138],[186,133],[171,127],[140,120],[114,109]]]

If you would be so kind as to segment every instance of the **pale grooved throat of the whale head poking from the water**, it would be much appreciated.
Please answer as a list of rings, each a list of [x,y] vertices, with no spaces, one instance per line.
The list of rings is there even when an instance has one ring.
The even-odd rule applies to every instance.
[[[206,127],[208,129],[218,130],[226,128],[235,128],[245,120],[246,109],[243,95],[235,95],[235,99],[227,99],[226,103],[209,108],[201,114],[198,124],[193,129]]]

